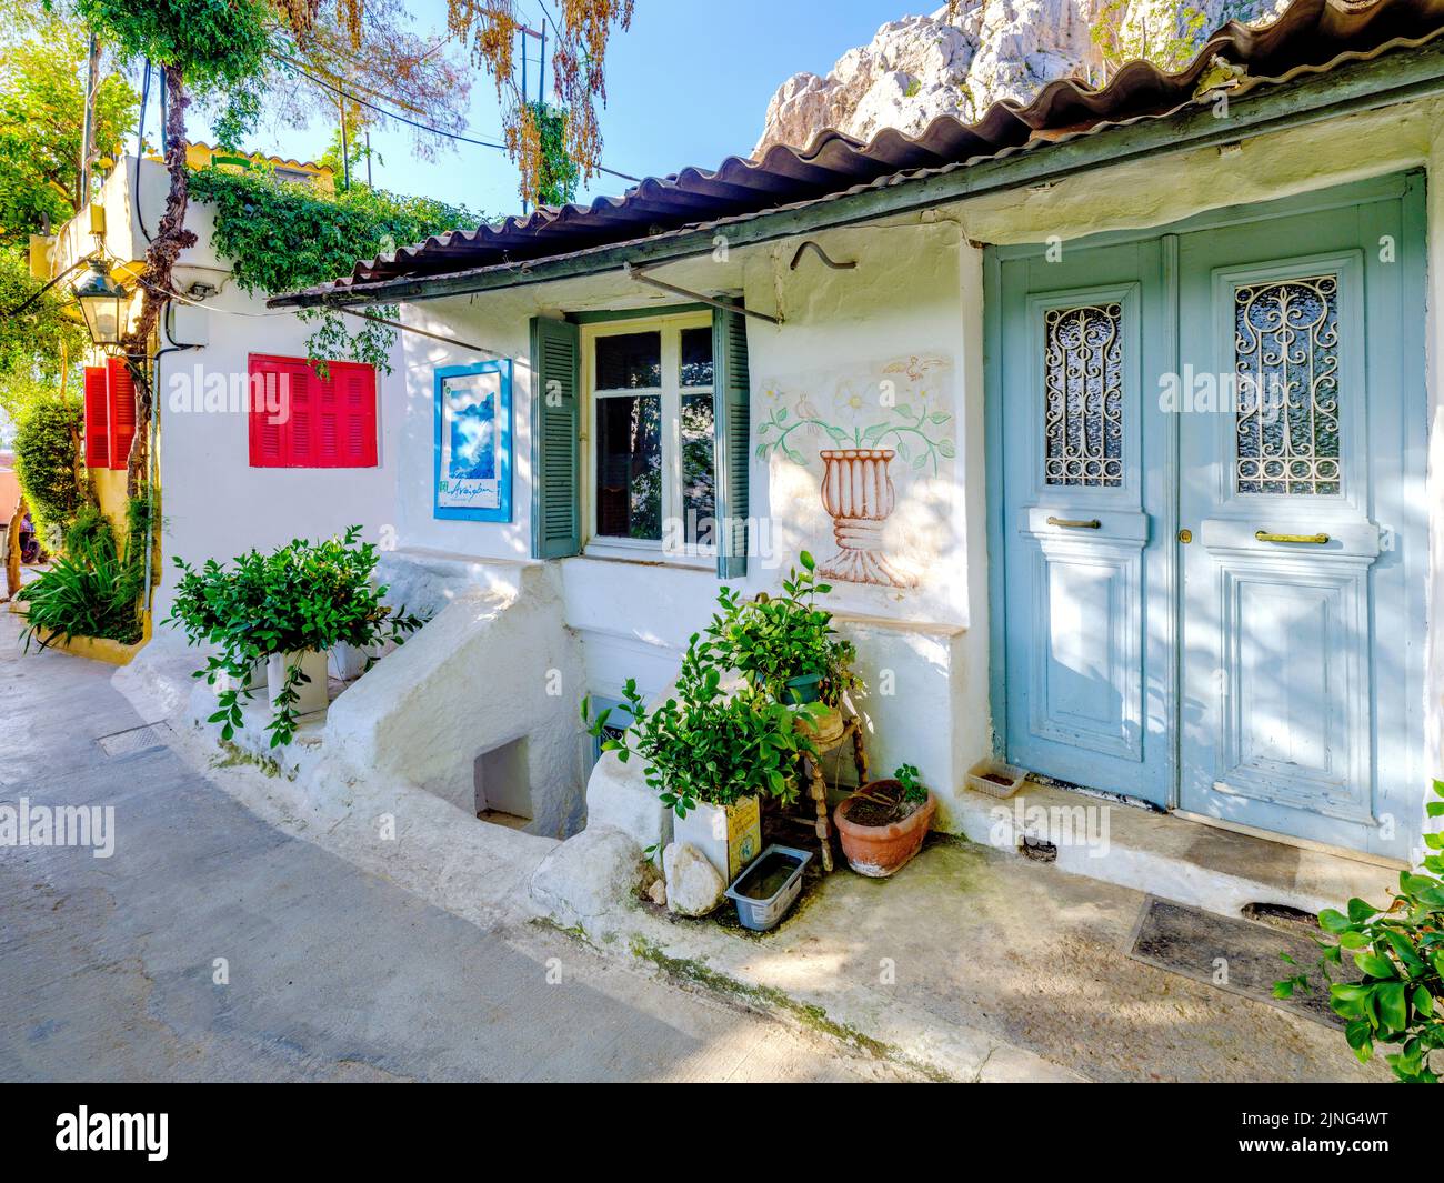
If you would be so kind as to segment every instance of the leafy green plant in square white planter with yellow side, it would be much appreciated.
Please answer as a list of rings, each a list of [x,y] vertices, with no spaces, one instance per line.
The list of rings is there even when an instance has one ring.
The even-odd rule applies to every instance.
[[[676,693],[648,709],[631,679],[622,709],[631,724],[619,737],[606,735],[609,709],[592,719],[583,699],[582,719],[605,740],[604,751],[644,763],[647,783],[676,815],[676,841],[696,846],[732,883],[761,849],[760,796],[796,800],[797,757],[816,754],[793,711],[745,682],[725,688],[699,634],[687,643]]]

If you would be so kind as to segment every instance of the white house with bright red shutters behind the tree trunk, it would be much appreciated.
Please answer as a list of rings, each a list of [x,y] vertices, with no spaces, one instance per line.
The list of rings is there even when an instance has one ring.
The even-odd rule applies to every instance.
[[[214,156],[206,144],[189,146],[193,168]],[[329,168],[266,159],[282,179],[331,189]],[[146,247],[169,185],[159,160],[117,160],[91,204],[100,215],[87,208],[61,228],[51,251],[52,273],[98,251],[131,292],[134,315]],[[251,547],[328,537],[354,524],[374,542],[396,519],[400,423],[383,407],[401,400],[400,345],[390,376],[357,363],[331,363],[332,377],[322,383],[306,363],[315,322],[267,309],[264,296],[237,287],[231,261],[212,244],[214,207],[192,199],[185,224],[196,243],[176,259],[172,286],[178,295],[153,352],[155,487],[163,552],[153,572],[155,621],[170,611],[172,556],[191,563],[225,560]],[[87,374],[88,389],[98,396],[87,407],[88,464],[103,508],[120,521],[129,439],[114,449],[104,443],[111,435],[107,402],[129,407],[129,378],[118,358],[107,363],[100,355]],[[126,396],[107,400],[107,381],[114,386],[117,377],[127,384]],[[269,402],[253,399],[253,389],[269,391]],[[282,399],[283,390],[290,397]]]

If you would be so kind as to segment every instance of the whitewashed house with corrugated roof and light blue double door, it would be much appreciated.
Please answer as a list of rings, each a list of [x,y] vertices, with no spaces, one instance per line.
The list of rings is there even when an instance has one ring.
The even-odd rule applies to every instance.
[[[393,576],[459,602],[335,705],[338,751],[570,833],[582,695],[660,690],[721,584],[807,549],[874,764],[918,764],[940,828],[985,836],[996,751],[1194,819],[1115,822],[1106,874],[1177,898],[1248,878],[1213,826],[1276,839],[1219,859],[1291,861],[1300,900],[1339,885],[1304,890],[1341,865],[1311,852],[1409,859],[1444,722],[1441,33],[1441,0],[1298,0],[1178,75],[826,133],[273,300],[430,334],[384,406]],[[650,841],[624,781],[586,806]]]

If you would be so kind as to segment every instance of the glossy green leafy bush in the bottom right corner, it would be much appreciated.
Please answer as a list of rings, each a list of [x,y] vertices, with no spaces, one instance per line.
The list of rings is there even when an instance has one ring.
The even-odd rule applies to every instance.
[[[1444,797],[1444,781],[1434,781]],[[1444,800],[1430,802],[1431,818],[1444,816]],[[1427,833],[1432,855],[1424,872],[1402,871],[1399,890],[1388,907],[1350,900],[1347,916],[1334,909],[1318,914],[1318,926],[1333,937],[1320,939],[1324,950],[1318,972],[1328,987],[1328,1004],[1344,1020],[1344,1039],[1360,1062],[1373,1056],[1375,1043],[1398,1046],[1386,1056],[1393,1075],[1412,1083],[1437,1083],[1444,1070],[1444,835]],[[1359,982],[1330,981],[1331,966],[1349,952],[1363,972]],[[1292,962],[1287,953],[1284,959]],[[1276,998],[1307,991],[1307,972],[1274,985]]]

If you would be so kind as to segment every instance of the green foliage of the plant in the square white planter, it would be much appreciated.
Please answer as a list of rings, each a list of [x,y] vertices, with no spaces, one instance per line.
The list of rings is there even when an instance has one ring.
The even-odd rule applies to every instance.
[[[674,696],[648,711],[630,679],[624,699],[631,727],[606,738],[602,751],[615,751],[624,764],[632,755],[643,760],[647,784],[679,818],[697,802],[726,806],[754,793],[796,800],[797,757],[817,754],[797,732],[794,711],[748,686],[722,688],[722,667],[699,634],[687,644]],[[589,701],[582,702],[592,735],[604,737],[611,714],[592,721]]]

